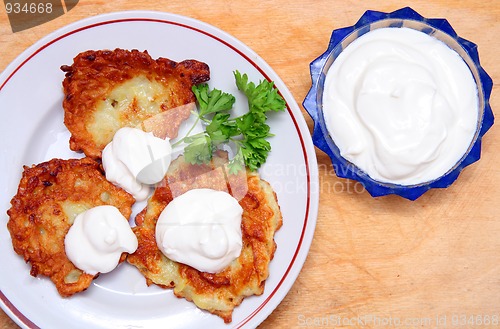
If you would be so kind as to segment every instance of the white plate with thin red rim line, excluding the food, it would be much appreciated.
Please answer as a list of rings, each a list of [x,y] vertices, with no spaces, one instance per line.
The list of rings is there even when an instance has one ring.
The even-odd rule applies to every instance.
[[[153,58],[193,58],[210,66],[210,86],[235,95],[232,72],[251,81],[275,81],[286,113],[269,121],[276,136],[261,175],[277,192],[284,224],[262,296],[246,298],[225,325],[217,316],[147,287],[129,264],[101,275],[83,293],[61,298],[45,277],[29,275],[6,227],[22,166],[51,158],[81,157],[69,150],[63,124],[60,66],[89,49],[148,50]],[[244,100],[238,100],[243,104]],[[318,173],[310,133],[300,108],[276,73],[255,52],[227,33],[190,18],[161,12],[120,12],[68,25],[27,49],[0,76],[0,306],[23,328],[254,328],[276,308],[295,281],[314,234]]]

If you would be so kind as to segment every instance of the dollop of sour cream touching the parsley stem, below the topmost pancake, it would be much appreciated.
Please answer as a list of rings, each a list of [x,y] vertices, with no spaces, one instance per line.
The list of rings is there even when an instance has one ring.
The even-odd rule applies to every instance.
[[[150,186],[160,182],[170,166],[172,147],[168,138],[155,137],[141,129],[119,129],[102,152],[106,179],[145,200]]]

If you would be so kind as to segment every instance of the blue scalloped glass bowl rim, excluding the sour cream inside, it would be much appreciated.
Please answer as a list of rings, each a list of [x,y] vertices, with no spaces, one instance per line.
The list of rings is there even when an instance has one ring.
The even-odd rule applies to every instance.
[[[443,176],[416,185],[398,185],[378,182],[340,155],[338,147],[330,137],[325,126],[322,111],[323,87],[325,75],[342,50],[361,35],[378,28],[408,27],[432,35],[454,49],[467,63],[478,87],[479,115],[476,134],[463,157]],[[481,154],[481,138],[493,125],[494,117],[489,104],[493,81],[479,64],[477,45],[460,38],[445,19],[428,19],[413,9],[383,13],[366,11],[354,26],[332,32],[328,49],[310,65],[312,87],[304,99],[303,106],[314,121],[313,142],[327,153],[335,173],[339,177],[359,181],[373,196],[396,194],[409,200],[415,200],[431,188],[446,188],[458,177],[463,168],[476,162]]]

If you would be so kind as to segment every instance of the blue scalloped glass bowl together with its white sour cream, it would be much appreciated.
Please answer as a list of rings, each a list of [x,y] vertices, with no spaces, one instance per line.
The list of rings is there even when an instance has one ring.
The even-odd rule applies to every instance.
[[[411,8],[334,30],[303,106],[337,176],[415,200],[479,160],[494,118],[476,45]]]

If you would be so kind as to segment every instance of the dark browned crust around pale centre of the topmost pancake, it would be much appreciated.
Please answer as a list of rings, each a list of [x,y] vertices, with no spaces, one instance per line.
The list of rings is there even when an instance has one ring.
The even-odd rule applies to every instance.
[[[124,49],[85,51],[74,58],[72,65],[61,66],[61,70],[66,73],[63,108],[64,123],[71,132],[70,148],[83,151],[92,158],[99,158],[111,140],[96,142],[87,124],[92,120],[97,103],[106,99],[114,87],[138,76],[160,82],[168,91],[168,95],[163,95],[166,98],[160,100],[158,113],[161,113],[194,102],[192,86],[210,78],[205,63],[196,60],[177,63],[166,58],[155,60],[147,51]],[[119,114],[120,127],[135,127],[155,114],[147,113],[133,102]]]

